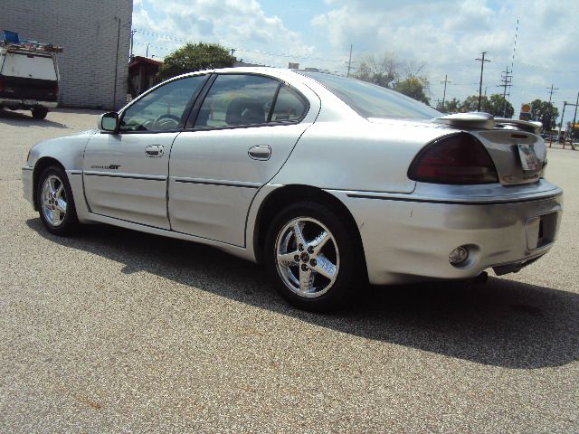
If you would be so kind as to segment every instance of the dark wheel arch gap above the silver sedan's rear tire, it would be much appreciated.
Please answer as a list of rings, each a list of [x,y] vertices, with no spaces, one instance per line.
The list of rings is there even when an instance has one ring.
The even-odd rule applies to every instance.
[[[289,204],[299,202],[321,203],[344,219],[348,228],[355,233],[356,248],[360,253],[359,258],[363,261],[361,269],[364,269],[366,272],[362,237],[352,213],[347,209],[346,205],[333,194],[327,193],[321,188],[303,184],[290,184],[280,187],[271,192],[261,203],[253,231],[253,249],[257,261],[260,263],[263,261],[262,255],[265,239],[275,215]]]

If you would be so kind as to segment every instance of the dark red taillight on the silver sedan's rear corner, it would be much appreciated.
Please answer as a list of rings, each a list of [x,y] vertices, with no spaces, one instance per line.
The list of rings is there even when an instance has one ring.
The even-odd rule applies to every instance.
[[[425,146],[410,165],[408,177],[433,184],[498,183],[487,149],[467,133],[441,137]]]

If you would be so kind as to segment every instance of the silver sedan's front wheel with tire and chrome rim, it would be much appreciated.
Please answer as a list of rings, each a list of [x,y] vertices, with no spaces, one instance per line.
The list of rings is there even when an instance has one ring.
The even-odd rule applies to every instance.
[[[71,184],[61,167],[48,167],[38,177],[36,203],[40,219],[49,232],[66,236],[78,230],[80,223]]]

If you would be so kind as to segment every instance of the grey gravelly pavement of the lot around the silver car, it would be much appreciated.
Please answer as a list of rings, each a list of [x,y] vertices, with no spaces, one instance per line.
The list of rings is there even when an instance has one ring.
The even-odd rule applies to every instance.
[[[0,110],[0,431],[579,432],[579,152],[549,153],[565,217],[546,258],[320,316],[211,248],[43,231],[28,148],[96,115]]]

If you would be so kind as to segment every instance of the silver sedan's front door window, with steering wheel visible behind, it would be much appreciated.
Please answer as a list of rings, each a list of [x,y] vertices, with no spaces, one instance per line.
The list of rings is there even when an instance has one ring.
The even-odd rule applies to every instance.
[[[174,80],[153,90],[125,110],[120,131],[167,131],[184,125],[185,109],[201,89],[204,75]]]

